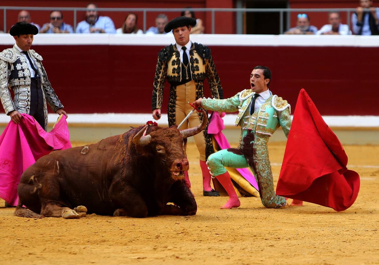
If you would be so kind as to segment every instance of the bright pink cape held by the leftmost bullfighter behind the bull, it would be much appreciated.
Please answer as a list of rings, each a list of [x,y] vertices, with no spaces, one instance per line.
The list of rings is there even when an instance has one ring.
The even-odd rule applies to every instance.
[[[22,172],[43,155],[71,147],[66,116],[61,115],[50,132],[36,120],[21,114],[20,124],[10,121],[0,136],[0,198],[17,205],[17,185]]]

